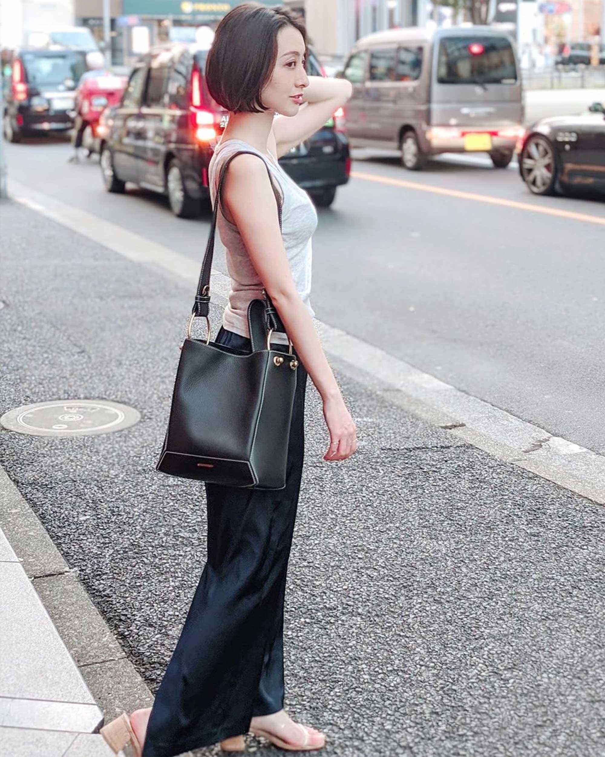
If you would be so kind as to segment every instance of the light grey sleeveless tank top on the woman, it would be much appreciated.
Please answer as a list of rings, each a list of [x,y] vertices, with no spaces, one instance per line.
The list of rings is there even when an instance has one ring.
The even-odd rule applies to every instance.
[[[241,139],[227,139],[225,142],[219,142],[219,145],[216,145],[208,167],[210,198],[213,203],[222,165],[230,155],[238,150],[250,150],[265,161],[271,173],[271,179],[283,198],[281,236],[290,263],[290,271],[302,302],[306,304],[309,312],[314,316],[310,296],[311,238],[317,228],[315,206],[305,190],[301,189],[293,179],[290,179],[290,176],[273,157],[263,154]],[[275,212],[277,213],[277,209]],[[241,238],[240,232],[237,231],[237,226],[225,218],[220,207],[216,225],[219,229],[221,241],[225,245],[227,271],[231,277],[231,292],[223,313],[222,325],[225,329],[240,336],[250,337],[247,320],[248,305],[252,300],[262,299],[262,282],[247,253],[244,240]],[[277,344],[287,344],[287,337],[275,333],[272,335],[271,341]]]

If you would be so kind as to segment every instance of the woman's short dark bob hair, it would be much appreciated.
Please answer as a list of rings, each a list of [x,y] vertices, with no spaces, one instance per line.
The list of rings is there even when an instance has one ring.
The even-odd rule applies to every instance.
[[[206,83],[213,98],[230,113],[263,113],[261,92],[278,58],[278,33],[293,26],[307,44],[302,20],[287,8],[256,2],[237,5],[216,27],[206,60]]]

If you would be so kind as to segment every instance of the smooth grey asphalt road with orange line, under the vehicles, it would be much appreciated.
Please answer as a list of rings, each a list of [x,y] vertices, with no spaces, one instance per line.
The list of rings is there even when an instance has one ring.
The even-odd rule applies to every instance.
[[[107,195],[96,160],[67,164],[69,152],[60,140],[8,145],[9,172],[200,259],[208,213],[188,222],[172,217],[157,195],[135,188]],[[396,154],[355,151],[351,182],[330,210],[320,210],[315,311],[448,384],[603,453],[605,229],[591,217],[605,219],[597,196],[535,198],[514,166],[495,170],[481,156],[443,156],[410,173]],[[216,265],[225,271],[222,254]]]

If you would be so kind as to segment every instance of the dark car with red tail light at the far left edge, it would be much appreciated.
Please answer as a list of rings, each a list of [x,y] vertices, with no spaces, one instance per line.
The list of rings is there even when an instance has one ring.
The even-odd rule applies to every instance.
[[[73,126],[75,90],[86,70],[84,51],[17,51],[5,86],[5,137],[67,131]]]

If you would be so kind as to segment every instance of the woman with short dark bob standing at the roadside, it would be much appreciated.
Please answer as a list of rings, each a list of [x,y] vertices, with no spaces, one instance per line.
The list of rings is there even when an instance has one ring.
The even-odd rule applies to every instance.
[[[317,214],[278,157],[312,136],[348,100],[351,85],[308,77],[305,54],[305,29],[296,17],[248,3],[223,18],[206,63],[209,92],[229,111],[209,166],[232,280],[216,341],[250,350],[247,306],[264,288],[300,365],[286,488],[206,484],[208,559],[154,707],[130,718],[124,713],[101,731],[114,749],[130,742],[143,757],[172,757],[218,742],[225,751],[242,751],[248,731],[281,749],[321,749],[325,743],[324,734],[284,711],[284,591],[302,473],[307,372],[330,432],[324,460],[348,458],[357,441],[312,322]],[[218,199],[222,166],[238,151],[253,154],[231,160]],[[281,230],[274,188],[282,203]],[[274,337],[275,348],[286,351],[285,335]]]

